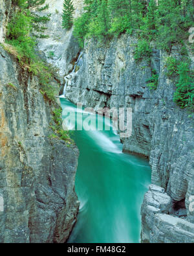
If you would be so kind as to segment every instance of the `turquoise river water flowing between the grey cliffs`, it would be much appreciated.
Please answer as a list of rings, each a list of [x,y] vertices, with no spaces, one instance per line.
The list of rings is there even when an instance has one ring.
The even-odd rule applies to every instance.
[[[63,110],[76,111],[74,104],[60,100]],[[140,242],[140,208],[151,183],[148,161],[124,154],[113,129],[74,131],[73,138],[80,150],[76,174],[80,211],[68,242]]]

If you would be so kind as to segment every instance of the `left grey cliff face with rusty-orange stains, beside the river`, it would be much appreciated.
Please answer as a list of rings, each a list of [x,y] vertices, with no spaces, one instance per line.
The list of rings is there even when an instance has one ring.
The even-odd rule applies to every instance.
[[[74,225],[78,149],[48,138],[55,108],[1,47],[0,242],[65,242]]]

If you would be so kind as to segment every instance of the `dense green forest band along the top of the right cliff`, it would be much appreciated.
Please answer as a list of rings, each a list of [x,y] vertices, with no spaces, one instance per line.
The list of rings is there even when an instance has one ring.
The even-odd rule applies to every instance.
[[[135,31],[141,39],[155,40],[158,47],[170,52],[174,43],[188,39],[193,22],[190,0],[158,0],[158,5],[155,0],[85,0],[85,12],[75,22],[74,36],[83,47],[87,37],[102,40]]]

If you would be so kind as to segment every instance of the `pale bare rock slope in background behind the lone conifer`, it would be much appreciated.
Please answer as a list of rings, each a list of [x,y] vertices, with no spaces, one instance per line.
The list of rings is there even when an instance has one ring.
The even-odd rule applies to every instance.
[[[73,0],[75,12],[78,17],[83,11],[83,0]],[[46,11],[50,14],[50,21],[47,23],[45,33],[49,38],[41,39],[38,49],[45,54],[47,62],[58,68],[59,78],[63,84],[63,76],[73,69],[74,60],[80,51],[78,42],[72,35],[72,29],[62,28],[63,0],[47,0],[49,8]]]

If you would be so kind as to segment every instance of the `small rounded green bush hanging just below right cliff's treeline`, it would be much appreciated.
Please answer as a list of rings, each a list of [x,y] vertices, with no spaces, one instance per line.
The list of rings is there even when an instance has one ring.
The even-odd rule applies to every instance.
[[[135,49],[135,60],[142,60],[142,58],[149,58],[151,56],[151,47],[146,40],[138,41]]]

